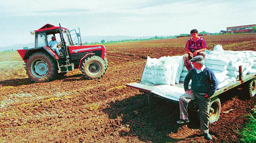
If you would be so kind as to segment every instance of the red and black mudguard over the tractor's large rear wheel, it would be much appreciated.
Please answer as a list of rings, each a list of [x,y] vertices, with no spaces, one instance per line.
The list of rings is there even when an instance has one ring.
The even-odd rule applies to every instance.
[[[34,54],[36,52],[47,52],[50,54],[54,59],[58,60],[58,55],[49,47],[38,47],[38,48],[30,48],[30,49],[23,49],[23,50],[17,50],[17,52],[20,54],[21,58],[24,60],[25,63],[27,63],[27,59],[31,54]]]

